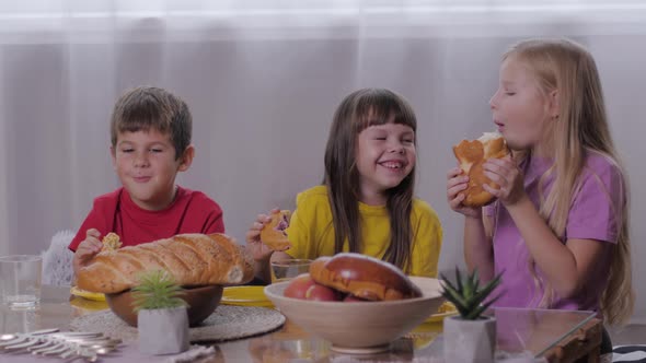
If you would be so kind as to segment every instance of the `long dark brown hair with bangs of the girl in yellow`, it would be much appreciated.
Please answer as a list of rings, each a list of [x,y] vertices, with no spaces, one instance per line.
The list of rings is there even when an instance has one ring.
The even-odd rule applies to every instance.
[[[334,250],[343,250],[348,241],[349,251],[362,248],[359,215],[359,172],[356,165],[357,136],[373,125],[395,124],[417,130],[415,113],[400,95],[383,89],[364,89],[349,94],[336,109],[325,149],[325,179],[334,224]],[[416,137],[415,137],[416,138]],[[414,140],[417,144],[417,140]],[[390,218],[391,242],[383,260],[405,272],[409,269],[413,231],[411,211],[415,186],[415,167],[396,187],[388,190],[387,209]]]

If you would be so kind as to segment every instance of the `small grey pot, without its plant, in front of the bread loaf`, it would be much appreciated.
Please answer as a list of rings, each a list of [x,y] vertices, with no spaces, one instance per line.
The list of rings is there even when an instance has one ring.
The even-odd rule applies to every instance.
[[[188,349],[186,307],[141,309],[137,315],[139,351],[146,354],[176,354]]]

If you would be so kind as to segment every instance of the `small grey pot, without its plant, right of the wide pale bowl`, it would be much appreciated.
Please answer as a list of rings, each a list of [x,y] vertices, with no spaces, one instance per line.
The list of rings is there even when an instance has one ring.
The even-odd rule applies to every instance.
[[[496,318],[464,320],[460,316],[445,319],[445,361],[463,363],[494,362]]]

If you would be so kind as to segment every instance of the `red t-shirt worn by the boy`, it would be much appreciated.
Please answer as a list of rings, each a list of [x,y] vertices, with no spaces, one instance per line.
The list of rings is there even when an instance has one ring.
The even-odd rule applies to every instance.
[[[224,222],[220,206],[201,191],[177,187],[175,200],[169,208],[148,211],[135,204],[128,192],[119,188],[94,199],[69,249],[77,250],[89,229],[99,230],[100,239],[114,232],[124,246],[135,246],[181,233],[223,233]]]

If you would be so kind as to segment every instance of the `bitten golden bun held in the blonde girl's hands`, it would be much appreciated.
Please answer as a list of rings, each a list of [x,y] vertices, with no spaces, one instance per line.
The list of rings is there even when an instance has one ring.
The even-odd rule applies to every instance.
[[[487,159],[503,159],[509,155],[509,149],[503,136],[497,132],[485,132],[477,140],[462,140],[453,147],[453,153],[460,163],[460,168],[464,175],[469,176],[469,187],[462,191],[466,198],[462,203],[466,207],[482,207],[489,203],[494,196],[482,186],[487,184],[495,189],[500,186],[486,177],[482,165]]]

